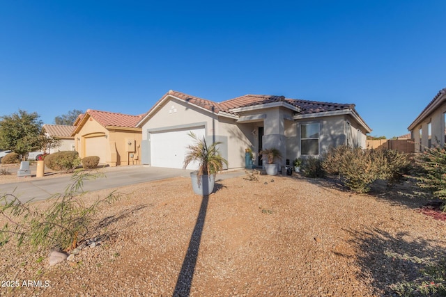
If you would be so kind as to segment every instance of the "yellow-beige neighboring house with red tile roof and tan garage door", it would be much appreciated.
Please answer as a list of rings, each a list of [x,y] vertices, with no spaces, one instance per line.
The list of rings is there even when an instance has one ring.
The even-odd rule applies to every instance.
[[[139,164],[141,115],[125,115],[108,111],[87,110],[75,120],[72,136],[79,156],[99,156],[109,166]]]

